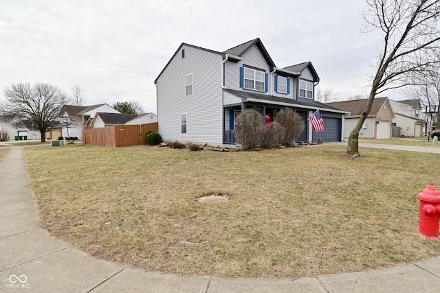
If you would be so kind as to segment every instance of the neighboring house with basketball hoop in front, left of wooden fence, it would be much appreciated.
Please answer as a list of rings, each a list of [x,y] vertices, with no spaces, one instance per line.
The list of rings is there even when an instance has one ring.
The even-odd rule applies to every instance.
[[[98,104],[91,106],[74,106],[64,105],[60,110],[60,117],[68,117],[70,119],[69,124],[63,125],[62,136],[63,137],[78,137],[83,138],[83,130],[85,125],[93,119],[96,113],[119,113],[108,104]],[[67,132],[69,132],[67,134]]]

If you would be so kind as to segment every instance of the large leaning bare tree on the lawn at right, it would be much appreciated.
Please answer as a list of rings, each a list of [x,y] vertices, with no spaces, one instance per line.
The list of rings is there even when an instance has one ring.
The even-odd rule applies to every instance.
[[[351,131],[347,154],[359,156],[358,137],[373,99],[389,89],[419,84],[423,75],[439,65],[440,0],[366,0],[362,11],[365,32],[381,34],[372,76],[369,102]]]

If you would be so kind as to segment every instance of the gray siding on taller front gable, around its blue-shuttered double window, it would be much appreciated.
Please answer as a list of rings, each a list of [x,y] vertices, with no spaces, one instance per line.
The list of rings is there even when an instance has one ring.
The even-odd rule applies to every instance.
[[[267,62],[261,51],[256,45],[253,45],[248,49],[248,51],[241,56],[241,61],[238,63],[234,62],[225,62],[225,86],[228,89],[240,90],[240,67],[243,65],[248,65],[251,67],[256,67],[259,69],[263,69],[270,76],[270,67],[267,65]],[[267,94],[270,93],[270,86],[272,82],[270,82],[271,78],[268,78],[267,84]],[[261,92],[260,92],[261,93]]]

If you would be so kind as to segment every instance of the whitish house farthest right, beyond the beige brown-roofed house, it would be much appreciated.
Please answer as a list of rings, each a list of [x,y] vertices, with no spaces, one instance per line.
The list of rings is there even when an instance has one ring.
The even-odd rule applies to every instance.
[[[423,137],[427,131],[428,121],[421,113],[419,99],[394,101],[390,99],[395,118],[393,118],[393,137]]]

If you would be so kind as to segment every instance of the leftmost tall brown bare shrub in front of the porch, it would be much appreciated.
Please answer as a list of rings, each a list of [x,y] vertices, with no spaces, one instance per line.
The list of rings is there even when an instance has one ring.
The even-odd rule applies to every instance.
[[[236,137],[243,148],[254,150],[263,132],[263,115],[257,110],[247,109],[236,118]]]

